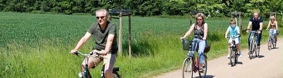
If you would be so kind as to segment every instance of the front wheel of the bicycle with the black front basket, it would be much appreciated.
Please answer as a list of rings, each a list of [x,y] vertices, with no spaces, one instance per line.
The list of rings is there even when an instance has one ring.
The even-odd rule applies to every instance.
[[[183,62],[182,66],[182,77],[183,78],[192,78],[192,72],[193,72],[193,64],[192,61],[190,61],[190,58],[186,58]]]

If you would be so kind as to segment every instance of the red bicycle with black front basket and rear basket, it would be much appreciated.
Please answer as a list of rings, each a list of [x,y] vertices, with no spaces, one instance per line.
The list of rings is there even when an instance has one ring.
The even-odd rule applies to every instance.
[[[193,72],[198,72],[200,70],[199,57],[197,57],[197,62],[195,61],[195,56],[192,54],[192,51],[195,51],[196,41],[183,39],[183,50],[188,50],[187,57],[185,58],[182,66],[182,77],[183,78],[192,78]],[[205,78],[207,72],[207,56],[206,53],[210,50],[211,43],[207,43],[204,51],[204,65],[203,71],[198,72],[200,78]],[[195,64],[196,63],[196,64]]]

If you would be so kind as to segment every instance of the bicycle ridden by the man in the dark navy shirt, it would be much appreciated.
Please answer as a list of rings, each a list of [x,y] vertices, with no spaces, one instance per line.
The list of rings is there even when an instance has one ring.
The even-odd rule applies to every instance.
[[[260,48],[257,47],[257,42],[258,42],[258,33],[257,31],[250,31],[247,33],[251,33],[251,40],[250,40],[250,49],[249,49],[249,58],[252,59],[252,55],[255,52],[256,57],[259,56],[260,54]],[[255,35],[254,35],[255,34]]]

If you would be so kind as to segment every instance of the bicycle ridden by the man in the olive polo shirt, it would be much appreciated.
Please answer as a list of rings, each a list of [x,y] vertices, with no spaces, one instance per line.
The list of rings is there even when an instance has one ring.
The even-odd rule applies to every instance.
[[[97,57],[99,57],[99,55],[101,55],[102,53],[98,53],[98,52],[90,52],[89,54],[82,54],[81,52],[69,52],[69,53],[74,53],[74,54],[76,54],[77,56],[78,56],[78,54],[81,54],[82,56],[87,57],[87,59],[86,59],[86,67],[85,67],[84,74],[82,74],[82,72],[79,72],[79,73],[78,73],[78,76],[79,76],[80,78],[92,78],[92,76],[91,76],[89,70],[87,69],[87,67],[88,67],[88,59],[89,59],[88,56],[91,56],[91,55],[93,55],[93,54],[96,54],[96,55],[98,55],[98,56],[96,56],[96,58],[97,58]],[[103,58],[101,58],[101,60],[103,61]],[[102,72],[101,72],[101,78],[105,78],[105,76],[104,76],[104,65],[102,66],[101,71],[102,71]],[[113,68],[113,70],[112,70],[112,75],[113,75],[114,78],[121,78],[121,75],[118,74],[118,71],[119,71],[119,67],[114,67],[114,68]]]

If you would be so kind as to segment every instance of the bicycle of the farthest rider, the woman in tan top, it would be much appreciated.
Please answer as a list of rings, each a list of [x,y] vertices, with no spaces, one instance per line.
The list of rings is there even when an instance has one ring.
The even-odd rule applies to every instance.
[[[267,29],[266,31],[276,31],[275,29]],[[268,50],[271,50],[271,45],[273,46],[273,49],[276,47],[276,41],[274,41],[274,35],[272,33],[269,33],[268,37]]]

